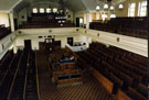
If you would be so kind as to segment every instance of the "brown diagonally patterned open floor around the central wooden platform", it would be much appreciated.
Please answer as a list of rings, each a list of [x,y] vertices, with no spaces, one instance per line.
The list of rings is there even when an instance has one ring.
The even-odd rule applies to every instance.
[[[40,100],[113,100],[105,88],[88,73],[83,74],[82,85],[56,88],[51,81],[47,54],[38,52],[36,57]]]

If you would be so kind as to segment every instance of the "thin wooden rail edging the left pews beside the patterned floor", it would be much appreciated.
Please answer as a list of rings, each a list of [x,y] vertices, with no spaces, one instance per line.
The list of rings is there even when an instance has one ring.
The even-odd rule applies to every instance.
[[[38,98],[40,100],[40,86],[39,86],[39,69],[38,69],[38,58],[36,58],[36,52],[35,52],[35,70],[36,70],[36,88],[38,88]]]

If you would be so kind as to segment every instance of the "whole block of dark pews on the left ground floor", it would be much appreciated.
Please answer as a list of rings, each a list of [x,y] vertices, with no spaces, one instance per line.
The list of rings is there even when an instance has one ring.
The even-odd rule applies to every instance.
[[[1,100],[38,100],[34,59],[26,49],[6,54],[0,62]]]

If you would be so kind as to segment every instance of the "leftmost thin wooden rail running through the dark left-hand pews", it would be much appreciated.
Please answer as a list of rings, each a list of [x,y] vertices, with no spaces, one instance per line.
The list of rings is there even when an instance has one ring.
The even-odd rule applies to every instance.
[[[9,95],[8,95],[8,100],[10,100],[10,95],[11,95],[11,92],[12,92],[12,88],[13,88],[13,86],[14,86],[14,80],[15,80],[15,77],[17,77],[17,74],[18,74],[18,70],[19,70],[19,67],[20,67],[20,65],[21,65],[22,58],[23,58],[23,54],[21,54],[21,58],[20,58],[20,60],[19,60],[19,64],[18,64],[18,67],[17,67],[15,74],[14,74],[14,76],[13,76],[12,84],[11,84],[11,87],[10,87],[10,90],[9,90]]]

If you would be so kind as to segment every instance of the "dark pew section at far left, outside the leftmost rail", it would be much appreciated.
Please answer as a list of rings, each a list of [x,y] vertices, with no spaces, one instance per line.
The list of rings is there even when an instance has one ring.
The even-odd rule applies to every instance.
[[[17,55],[10,59],[9,64],[6,64],[6,62],[0,66],[2,67],[1,71],[4,71],[2,74],[2,79],[0,81],[0,98],[7,99],[9,96],[9,91],[11,89],[11,85],[13,82],[13,78],[15,77],[15,73],[18,70],[19,59],[22,56],[22,53],[19,51]]]

